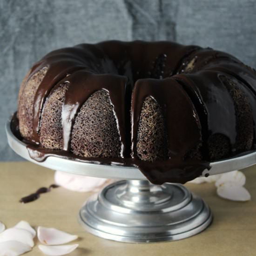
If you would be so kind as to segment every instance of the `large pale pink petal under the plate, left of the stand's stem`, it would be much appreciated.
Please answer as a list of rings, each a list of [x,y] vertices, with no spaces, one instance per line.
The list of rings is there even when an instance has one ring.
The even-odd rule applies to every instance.
[[[54,179],[57,185],[79,192],[93,191],[108,181],[108,179],[69,174],[61,171],[55,172]]]

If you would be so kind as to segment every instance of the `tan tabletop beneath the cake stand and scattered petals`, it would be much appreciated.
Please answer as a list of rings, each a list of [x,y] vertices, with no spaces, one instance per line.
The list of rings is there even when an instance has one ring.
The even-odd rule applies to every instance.
[[[70,256],[255,256],[256,255],[256,166],[244,169],[250,202],[219,198],[212,183],[186,185],[209,204],[214,221],[202,233],[169,243],[128,244],[108,241],[84,231],[77,222],[81,205],[90,193],[63,188],[43,194],[39,200],[22,204],[20,197],[54,182],[54,171],[29,162],[0,163],[0,221],[7,228],[20,220],[78,235],[79,248]],[[74,242],[76,243],[76,241]],[[27,256],[43,255],[37,248]]]

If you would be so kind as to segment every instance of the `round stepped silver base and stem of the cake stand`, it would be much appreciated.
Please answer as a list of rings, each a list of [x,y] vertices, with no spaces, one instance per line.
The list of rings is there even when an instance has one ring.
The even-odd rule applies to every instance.
[[[79,221],[88,232],[126,243],[183,239],[212,221],[207,204],[181,184],[119,181],[93,195]]]

